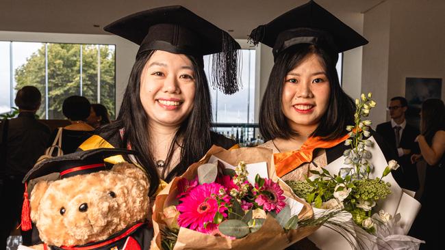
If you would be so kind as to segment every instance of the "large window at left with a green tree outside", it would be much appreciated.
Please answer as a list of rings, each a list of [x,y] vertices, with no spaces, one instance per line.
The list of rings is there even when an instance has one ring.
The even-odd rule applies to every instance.
[[[0,113],[14,107],[18,89],[34,85],[42,93],[37,114],[42,119],[64,119],[62,103],[68,96],[86,96],[102,103],[115,117],[115,46],[40,42],[0,42]]]

